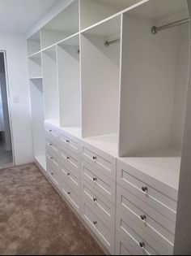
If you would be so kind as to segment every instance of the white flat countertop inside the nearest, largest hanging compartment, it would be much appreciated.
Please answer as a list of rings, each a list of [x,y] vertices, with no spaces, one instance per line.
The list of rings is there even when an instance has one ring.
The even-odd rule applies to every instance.
[[[128,158],[120,158],[120,160],[178,190],[181,162],[180,150],[167,147]]]

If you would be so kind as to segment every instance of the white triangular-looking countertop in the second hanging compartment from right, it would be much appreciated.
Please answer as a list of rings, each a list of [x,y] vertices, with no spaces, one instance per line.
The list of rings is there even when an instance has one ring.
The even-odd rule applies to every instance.
[[[111,133],[96,137],[83,138],[83,141],[90,145],[95,146],[97,149],[102,150],[113,157],[118,156],[118,134]]]

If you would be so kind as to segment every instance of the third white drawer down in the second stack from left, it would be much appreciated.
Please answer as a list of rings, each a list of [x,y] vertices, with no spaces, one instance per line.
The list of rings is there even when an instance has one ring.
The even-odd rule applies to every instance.
[[[80,172],[75,171],[73,168],[60,165],[60,176],[67,184],[76,191],[80,192]]]

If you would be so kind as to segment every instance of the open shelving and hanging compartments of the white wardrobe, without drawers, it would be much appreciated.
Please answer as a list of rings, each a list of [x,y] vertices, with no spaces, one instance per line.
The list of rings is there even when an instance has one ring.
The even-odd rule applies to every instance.
[[[189,24],[154,26],[188,17],[186,0],[74,0],[28,38],[41,167],[47,120],[178,195]]]

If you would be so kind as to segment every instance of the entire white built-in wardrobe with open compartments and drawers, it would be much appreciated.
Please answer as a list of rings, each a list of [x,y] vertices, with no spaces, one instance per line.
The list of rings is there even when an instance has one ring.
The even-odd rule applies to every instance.
[[[109,254],[191,253],[186,0],[74,0],[28,37],[34,155]]]

